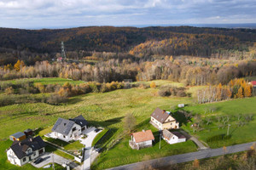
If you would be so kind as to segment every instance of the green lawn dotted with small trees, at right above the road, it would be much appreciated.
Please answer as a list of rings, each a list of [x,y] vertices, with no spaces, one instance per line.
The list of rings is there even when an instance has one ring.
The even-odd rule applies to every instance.
[[[241,144],[246,142],[252,142],[256,140],[256,97],[247,99],[233,99],[230,101],[215,102],[212,104],[204,105],[191,105],[185,108],[187,111],[192,111],[193,113],[201,114],[201,119],[210,118],[212,122],[207,125],[203,123],[204,129],[195,132],[195,135],[207,142],[207,139],[227,133],[228,126],[221,127],[218,129],[218,116],[229,116],[230,120],[226,124],[230,124],[230,139],[225,139],[221,141],[208,142],[212,148],[223,147],[224,145]],[[213,112],[209,112],[209,108],[214,108]],[[207,111],[207,112],[206,112]],[[206,112],[206,113],[205,113]],[[238,115],[241,115],[240,121],[238,121]],[[247,122],[244,116],[253,115],[253,120]],[[222,122],[222,120],[220,121]],[[244,122],[244,125],[239,125],[239,122]],[[193,129],[190,127],[189,123],[185,128],[189,133],[193,133]]]

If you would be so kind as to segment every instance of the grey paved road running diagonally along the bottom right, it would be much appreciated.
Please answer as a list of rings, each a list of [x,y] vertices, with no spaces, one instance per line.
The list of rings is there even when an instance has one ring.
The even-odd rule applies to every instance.
[[[160,165],[172,165],[175,163],[181,163],[185,161],[194,161],[195,159],[203,159],[212,156],[221,156],[223,154],[231,154],[244,150],[250,150],[250,147],[256,144],[256,142],[251,142],[247,144],[236,144],[232,146],[227,146],[224,151],[223,148],[218,149],[208,149],[208,150],[200,150],[196,152],[190,152],[187,154],[181,154],[177,156],[167,156],[159,159],[149,160],[149,161],[141,161],[137,163],[132,163],[120,167],[110,168],[111,170],[134,170],[134,169],[145,169],[145,167],[160,167]],[[109,170],[110,170],[109,169]]]

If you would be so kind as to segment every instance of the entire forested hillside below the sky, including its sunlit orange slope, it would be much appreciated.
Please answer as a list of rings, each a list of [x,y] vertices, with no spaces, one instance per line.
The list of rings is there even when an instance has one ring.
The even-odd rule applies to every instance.
[[[0,28],[0,65],[14,64],[17,59],[33,65],[40,59],[54,58],[55,53],[61,51],[61,41],[67,51],[76,52],[78,58],[82,58],[84,52],[126,53],[130,50],[130,54],[146,57],[150,54],[207,57],[221,50],[247,51],[255,40],[256,30],[190,26],[90,26],[56,30]]]

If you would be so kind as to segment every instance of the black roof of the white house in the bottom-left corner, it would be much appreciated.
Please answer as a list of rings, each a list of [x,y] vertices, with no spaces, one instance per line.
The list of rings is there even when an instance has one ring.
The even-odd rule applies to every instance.
[[[29,138],[25,139],[21,142],[14,141],[13,144],[10,146],[10,148],[15,152],[15,155],[21,159],[22,157],[26,156],[26,150],[28,148],[32,148],[33,151],[40,150],[41,148],[44,148],[44,140],[41,139],[40,136],[37,136],[36,138]]]

